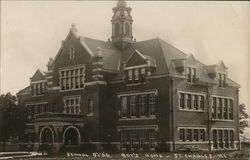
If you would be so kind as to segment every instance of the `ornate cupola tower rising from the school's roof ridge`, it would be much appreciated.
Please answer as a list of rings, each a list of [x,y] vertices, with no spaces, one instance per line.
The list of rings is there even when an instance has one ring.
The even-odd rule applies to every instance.
[[[112,42],[120,49],[124,49],[133,41],[131,8],[125,0],[118,0],[113,8]]]

